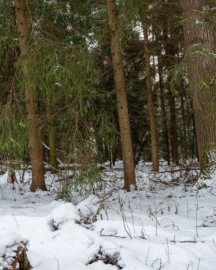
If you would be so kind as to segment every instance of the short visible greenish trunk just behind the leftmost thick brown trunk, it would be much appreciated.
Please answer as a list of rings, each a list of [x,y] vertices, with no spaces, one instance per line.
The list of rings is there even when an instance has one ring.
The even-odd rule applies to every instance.
[[[56,173],[55,169],[58,169],[58,159],[55,143],[55,128],[54,121],[52,119],[53,110],[50,97],[46,97],[46,115],[48,117],[48,138],[49,138],[49,155],[50,155],[50,165],[51,173]]]

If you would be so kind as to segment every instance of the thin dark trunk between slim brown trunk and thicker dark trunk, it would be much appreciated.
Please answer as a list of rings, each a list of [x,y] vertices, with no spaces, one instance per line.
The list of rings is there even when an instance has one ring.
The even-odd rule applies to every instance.
[[[160,84],[160,96],[161,96],[161,110],[163,113],[164,119],[164,137],[167,146],[167,164],[170,165],[170,144],[169,144],[169,133],[167,127],[167,116],[165,110],[165,103],[164,103],[164,83],[161,75],[161,56],[158,55],[158,76],[159,76],[159,84]]]

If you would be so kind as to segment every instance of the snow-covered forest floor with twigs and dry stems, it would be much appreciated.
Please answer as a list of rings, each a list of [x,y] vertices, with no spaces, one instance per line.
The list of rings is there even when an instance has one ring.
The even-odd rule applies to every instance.
[[[117,162],[114,172],[103,171],[108,185],[97,196],[74,193],[77,205],[55,200],[57,182],[49,173],[49,191],[35,193],[28,183],[13,187],[7,173],[0,176],[0,255],[8,239],[21,235],[34,270],[215,270],[216,196],[150,182],[149,168],[139,164],[138,190],[126,192]],[[29,177],[26,172],[24,183]],[[1,258],[0,269],[4,263]]]

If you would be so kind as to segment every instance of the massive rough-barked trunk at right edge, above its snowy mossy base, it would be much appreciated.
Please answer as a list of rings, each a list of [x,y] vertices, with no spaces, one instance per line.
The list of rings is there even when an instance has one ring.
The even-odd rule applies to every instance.
[[[207,153],[216,149],[216,26],[208,4],[203,0],[181,0],[200,167],[205,167]]]

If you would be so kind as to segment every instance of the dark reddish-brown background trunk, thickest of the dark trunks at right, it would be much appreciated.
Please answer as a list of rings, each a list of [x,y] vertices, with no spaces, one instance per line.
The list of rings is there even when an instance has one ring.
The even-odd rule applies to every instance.
[[[170,41],[168,37],[168,19],[165,16],[163,21],[163,36],[164,36],[164,49],[166,53],[166,68],[170,71],[170,67],[172,66],[172,52],[170,49]],[[169,96],[169,105],[170,105],[170,121],[172,128],[172,157],[173,162],[179,165],[179,149],[178,149],[178,133],[177,133],[177,124],[176,124],[176,106],[175,106],[175,98],[173,96],[171,90],[171,80],[172,75],[168,75],[167,83],[168,83],[168,96]]]

